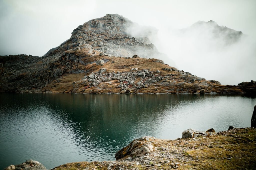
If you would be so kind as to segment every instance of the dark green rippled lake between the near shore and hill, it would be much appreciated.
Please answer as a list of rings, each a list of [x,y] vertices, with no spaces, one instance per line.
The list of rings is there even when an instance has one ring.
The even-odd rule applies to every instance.
[[[28,159],[46,168],[115,160],[133,139],[194,128],[250,127],[255,98],[193,94],[0,93],[0,169]]]

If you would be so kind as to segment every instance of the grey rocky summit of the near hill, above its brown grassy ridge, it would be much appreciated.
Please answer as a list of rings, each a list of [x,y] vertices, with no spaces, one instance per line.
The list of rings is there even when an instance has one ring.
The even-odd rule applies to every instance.
[[[141,33],[134,33],[134,27],[138,25],[118,14],[92,19],[74,29],[67,41],[49,50],[43,58],[59,58],[66,51],[88,47],[89,53],[97,51],[118,57],[132,57],[135,54],[143,58],[164,56],[149,40],[152,34],[157,33],[155,28],[147,27],[143,28],[146,31],[141,29]]]

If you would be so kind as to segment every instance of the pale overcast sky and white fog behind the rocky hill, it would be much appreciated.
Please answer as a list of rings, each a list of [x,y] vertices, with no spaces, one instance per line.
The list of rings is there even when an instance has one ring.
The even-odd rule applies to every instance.
[[[165,63],[221,84],[256,80],[256,1],[33,1],[0,0],[0,55],[44,55],[73,29],[106,14],[120,14],[156,31],[150,40]],[[242,31],[233,41],[197,21]],[[189,28],[189,29],[188,29]],[[133,33],[136,33],[135,31]],[[216,36],[219,35],[219,36]],[[139,36],[139,35],[137,35]],[[155,57],[157,58],[157,57]]]

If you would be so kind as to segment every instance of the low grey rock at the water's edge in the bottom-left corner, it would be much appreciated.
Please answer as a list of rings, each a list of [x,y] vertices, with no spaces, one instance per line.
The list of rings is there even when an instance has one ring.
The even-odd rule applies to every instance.
[[[46,170],[46,167],[38,161],[27,160],[19,165],[10,165],[4,170]]]

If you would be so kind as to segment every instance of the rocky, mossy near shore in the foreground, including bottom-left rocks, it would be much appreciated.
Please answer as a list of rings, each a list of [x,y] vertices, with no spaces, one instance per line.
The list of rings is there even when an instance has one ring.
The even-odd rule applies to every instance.
[[[138,169],[254,169],[256,167],[256,128],[233,128],[216,133],[214,129],[187,129],[182,138],[162,140],[143,137],[133,140],[115,155],[116,161],[76,162],[52,168],[73,170]],[[46,170],[37,161],[10,165],[5,170]]]

